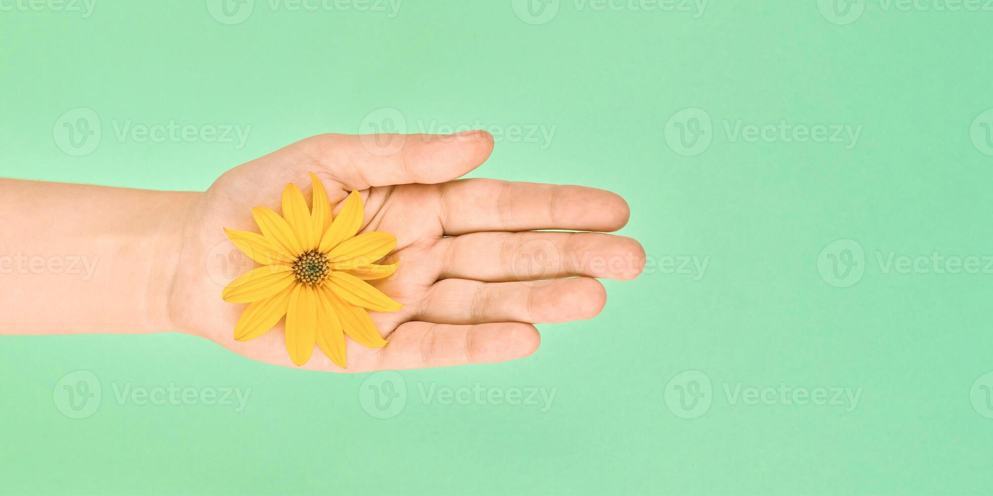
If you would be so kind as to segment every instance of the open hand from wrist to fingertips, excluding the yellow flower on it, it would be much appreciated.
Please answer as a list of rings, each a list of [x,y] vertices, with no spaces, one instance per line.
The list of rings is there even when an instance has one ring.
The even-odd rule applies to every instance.
[[[223,228],[258,232],[251,208],[280,211],[280,194],[289,183],[300,186],[309,202],[308,172],[313,172],[336,213],[350,191],[361,193],[360,232],[396,236],[389,258],[401,261],[399,270],[371,283],[404,308],[370,312],[389,344],[366,348],[348,338],[348,369],[320,350],[304,368],[362,372],[531,354],[540,341],[532,324],[597,315],[607,295],[594,278],[634,279],[643,268],[644,251],[634,239],[601,232],[536,231],[620,229],[629,210],[615,193],[584,186],[456,181],[492,151],[493,138],[483,131],[322,135],[228,171],[186,215],[179,269],[168,289],[170,318],[248,358],[293,366],[282,322],[254,340],[234,340],[234,324],[245,306],[221,301],[220,291],[238,274],[218,275],[238,257]],[[247,257],[240,260],[240,273],[253,267]],[[543,281],[531,282],[537,280]]]

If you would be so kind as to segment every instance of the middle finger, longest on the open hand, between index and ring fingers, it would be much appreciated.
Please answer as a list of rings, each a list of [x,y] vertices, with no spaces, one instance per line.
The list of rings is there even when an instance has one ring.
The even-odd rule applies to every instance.
[[[474,232],[445,238],[439,279],[538,281],[572,276],[635,279],[644,249],[599,232]]]

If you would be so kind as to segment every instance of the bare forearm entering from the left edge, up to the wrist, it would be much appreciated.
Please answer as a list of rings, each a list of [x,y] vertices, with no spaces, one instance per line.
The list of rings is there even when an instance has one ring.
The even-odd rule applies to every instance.
[[[198,194],[0,179],[0,334],[171,330]]]

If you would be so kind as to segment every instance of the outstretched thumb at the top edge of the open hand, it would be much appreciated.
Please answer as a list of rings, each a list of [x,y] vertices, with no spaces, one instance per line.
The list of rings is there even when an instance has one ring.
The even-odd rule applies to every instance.
[[[456,180],[490,158],[494,140],[486,131],[455,135],[327,134],[301,142],[301,148],[347,189],[365,189]]]

